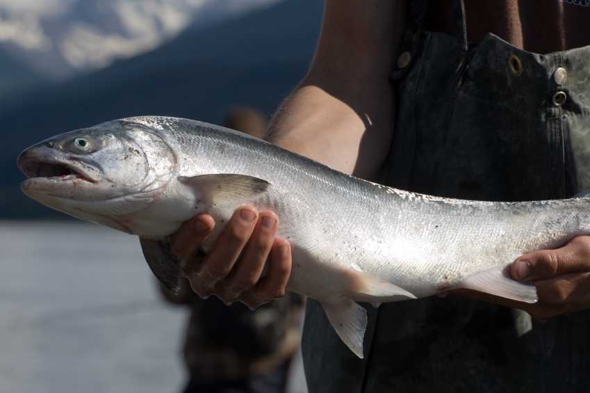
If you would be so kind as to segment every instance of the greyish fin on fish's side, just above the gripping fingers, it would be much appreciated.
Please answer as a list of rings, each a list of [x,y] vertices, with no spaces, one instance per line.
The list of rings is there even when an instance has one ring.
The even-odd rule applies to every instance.
[[[270,183],[247,175],[217,174],[193,177],[179,177],[179,182],[190,187],[195,193],[197,203],[240,205],[264,193]]]

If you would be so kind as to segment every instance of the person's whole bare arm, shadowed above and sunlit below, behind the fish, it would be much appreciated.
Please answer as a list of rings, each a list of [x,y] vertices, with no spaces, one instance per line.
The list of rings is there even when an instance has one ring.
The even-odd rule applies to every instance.
[[[395,86],[388,77],[406,15],[404,1],[390,1],[382,8],[375,4],[327,1],[309,73],[275,113],[265,136],[365,178],[381,166],[391,144]]]

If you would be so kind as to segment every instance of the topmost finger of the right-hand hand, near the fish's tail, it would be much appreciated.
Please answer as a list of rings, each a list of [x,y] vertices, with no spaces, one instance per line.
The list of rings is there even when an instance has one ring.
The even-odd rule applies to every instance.
[[[514,280],[534,281],[564,273],[590,271],[590,236],[578,236],[557,250],[531,252],[517,258],[510,271]]]

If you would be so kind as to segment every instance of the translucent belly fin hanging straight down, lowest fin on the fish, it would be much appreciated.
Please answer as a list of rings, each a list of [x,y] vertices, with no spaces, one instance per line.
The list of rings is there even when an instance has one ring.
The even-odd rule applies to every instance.
[[[355,355],[362,359],[367,311],[347,296],[320,300],[320,303],[338,336]]]

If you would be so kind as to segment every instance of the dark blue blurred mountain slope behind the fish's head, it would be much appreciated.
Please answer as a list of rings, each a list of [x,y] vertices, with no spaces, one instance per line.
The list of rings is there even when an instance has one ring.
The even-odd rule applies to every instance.
[[[19,190],[15,159],[45,138],[133,115],[168,115],[220,124],[234,105],[268,116],[304,77],[316,47],[322,0],[288,0],[167,45],[0,101],[0,218],[58,217]]]

